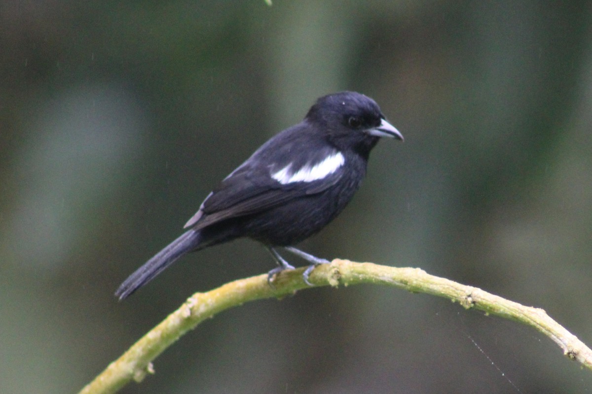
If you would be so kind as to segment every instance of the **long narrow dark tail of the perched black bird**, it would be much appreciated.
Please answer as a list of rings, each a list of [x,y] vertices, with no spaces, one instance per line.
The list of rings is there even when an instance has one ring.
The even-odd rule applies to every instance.
[[[119,297],[120,300],[129,297],[134,291],[150,282],[156,275],[164,271],[166,267],[177,261],[182,255],[191,252],[191,250],[198,249],[201,243],[200,238],[200,231],[189,230],[175,239],[165,249],[160,250],[152,259],[138,268],[136,272],[132,273],[119,286],[115,292],[115,296]]]

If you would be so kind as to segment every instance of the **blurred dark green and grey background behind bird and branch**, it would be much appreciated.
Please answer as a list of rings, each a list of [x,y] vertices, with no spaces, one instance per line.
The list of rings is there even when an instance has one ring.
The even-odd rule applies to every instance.
[[[117,302],[211,188],[321,95],[381,141],[308,252],[545,308],[592,344],[592,6],[0,5],[0,392],[76,392],[195,291],[274,267],[239,240]],[[476,346],[477,345],[477,346]],[[124,393],[591,392],[530,328],[392,288],[310,289],[182,338]]]

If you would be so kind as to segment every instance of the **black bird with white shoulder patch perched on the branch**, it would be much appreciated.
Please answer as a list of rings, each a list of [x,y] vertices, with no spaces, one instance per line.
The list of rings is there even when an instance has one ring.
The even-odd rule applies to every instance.
[[[352,199],[366,174],[368,155],[381,137],[403,136],[377,103],[355,92],[320,97],[304,120],[278,133],[230,173],[189,219],[189,230],[132,273],[115,295],[127,298],[182,255],[239,237],[271,252],[275,273],[294,269],[277,252],[284,247],[314,266],[328,263],[298,242],[331,222]]]

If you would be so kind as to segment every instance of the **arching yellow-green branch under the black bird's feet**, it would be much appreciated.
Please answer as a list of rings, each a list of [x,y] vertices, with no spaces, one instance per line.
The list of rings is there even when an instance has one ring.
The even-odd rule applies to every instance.
[[[195,293],[118,360],[112,362],[82,389],[81,394],[114,393],[132,379],[140,382],[147,374],[154,373],[152,361],[160,353],[203,320],[244,302],[281,298],[300,289],[310,288],[304,284],[302,272],[303,269],[282,272],[276,276],[274,287],[268,285],[265,274],[239,279],[205,293]],[[348,286],[359,283],[391,285],[411,292],[448,298],[467,309],[475,308],[487,314],[530,325],[558,344],[567,357],[592,370],[592,350],[542,309],[525,307],[481,289],[429,275],[419,268],[394,268],[335,259],[331,264],[317,266],[310,275],[310,282],[314,286]]]

